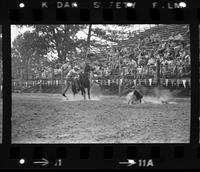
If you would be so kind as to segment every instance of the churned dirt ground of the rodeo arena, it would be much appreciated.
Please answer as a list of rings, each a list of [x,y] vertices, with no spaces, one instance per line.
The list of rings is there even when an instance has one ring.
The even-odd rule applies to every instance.
[[[68,96],[13,94],[12,142],[189,143],[189,98],[128,105],[125,97]]]

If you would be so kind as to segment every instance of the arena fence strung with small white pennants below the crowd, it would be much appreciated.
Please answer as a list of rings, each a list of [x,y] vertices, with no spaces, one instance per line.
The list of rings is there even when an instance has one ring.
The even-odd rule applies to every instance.
[[[23,80],[13,80],[12,81],[12,90],[26,89],[34,86],[41,86],[43,88],[48,87],[58,87],[66,85],[67,81],[62,81],[61,79],[49,80],[49,79],[34,79],[29,81]],[[126,79],[126,78],[117,78],[117,79],[107,79],[107,78],[94,78],[92,83],[97,83],[103,86],[112,86],[118,85],[131,85],[131,86],[154,86],[157,85],[157,80],[155,78],[149,79]],[[190,78],[185,79],[160,79],[160,85],[164,87],[176,87],[176,88],[190,88],[191,81]]]

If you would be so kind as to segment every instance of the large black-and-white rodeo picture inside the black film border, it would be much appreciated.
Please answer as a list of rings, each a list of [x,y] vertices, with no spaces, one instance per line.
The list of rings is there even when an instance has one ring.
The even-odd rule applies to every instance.
[[[14,144],[190,142],[189,25],[11,25],[11,58]]]

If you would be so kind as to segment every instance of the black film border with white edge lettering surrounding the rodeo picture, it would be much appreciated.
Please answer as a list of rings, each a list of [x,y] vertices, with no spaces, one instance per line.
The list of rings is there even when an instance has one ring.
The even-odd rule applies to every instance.
[[[26,7],[20,8],[20,3]],[[135,169],[135,168],[200,168],[199,146],[199,24],[200,3],[184,1],[187,8],[154,8],[154,2],[134,1],[132,8],[94,8],[93,2],[77,0],[79,8],[58,9],[47,1],[7,0],[0,2],[3,34],[3,142],[0,144],[0,168],[66,168],[66,169]],[[69,1],[68,1],[69,2]],[[98,1],[101,2],[101,1]],[[109,1],[107,1],[109,2]],[[115,2],[114,0],[112,2]],[[122,1],[118,1],[122,2]],[[131,2],[131,1],[130,1]],[[177,3],[181,1],[170,1]],[[166,5],[167,6],[167,5]],[[132,15],[134,14],[134,15]],[[64,16],[64,17],[63,17]],[[188,144],[12,144],[11,143],[11,24],[189,24],[192,57],[191,126]],[[196,72],[198,71],[198,72]],[[48,161],[47,165],[34,160]],[[23,163],[23,160],[26,163]],[[130,165],[138,160],[141,165]],[[129,164],[121,165],[119,162]],[[153,164],[153,165],[152,165]]]

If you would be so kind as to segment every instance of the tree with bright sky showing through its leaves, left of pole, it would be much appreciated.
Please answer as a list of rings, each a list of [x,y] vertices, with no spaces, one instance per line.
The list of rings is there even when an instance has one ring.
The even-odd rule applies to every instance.
[[[76,47],[84,42],[76,34],[85,28],[84,25],[34,25],[35,31],[47,44],[49,52],[57,54],[56,63],[65,63],[69,55],[76,54]]]

